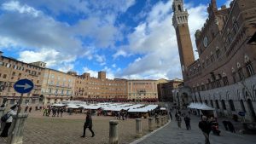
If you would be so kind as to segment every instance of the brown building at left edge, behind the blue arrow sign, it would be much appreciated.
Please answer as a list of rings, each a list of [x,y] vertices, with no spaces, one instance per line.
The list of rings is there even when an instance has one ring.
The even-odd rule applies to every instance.
[[[14,89],[14,84],[20,79],[29,79],[34,84],[30,93],[23,95],[22,104],[38,104],[42,88],[44,68],[33,66],[20,60],[3,56],[0,52],[0,102],[15,104],[20,100],[20,93]]]

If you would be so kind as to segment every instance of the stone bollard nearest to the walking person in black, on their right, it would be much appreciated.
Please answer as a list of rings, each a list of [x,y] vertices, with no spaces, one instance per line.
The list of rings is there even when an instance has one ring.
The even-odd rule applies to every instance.
[[[118,135],[118,120],[110,120],[109,121],[109,144],[118,144],[119,143],[119,135]]]

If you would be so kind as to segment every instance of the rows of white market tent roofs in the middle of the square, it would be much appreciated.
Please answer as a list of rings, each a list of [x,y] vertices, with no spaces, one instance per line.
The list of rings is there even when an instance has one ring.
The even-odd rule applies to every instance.
[[[97,104],[87,104],[84,101],[69,101],[62,104],[53,104],[54,107],[64,107],[67,108],[83,108],[83,109],[91,109],[96,110],[102,108],[105,111],[115,111],[119,112],[121,110],[125,110],[128,112],[150,112],[153,111],[158,105],[148,105],[144,104],[130,104],[130,103],[97,103]]]

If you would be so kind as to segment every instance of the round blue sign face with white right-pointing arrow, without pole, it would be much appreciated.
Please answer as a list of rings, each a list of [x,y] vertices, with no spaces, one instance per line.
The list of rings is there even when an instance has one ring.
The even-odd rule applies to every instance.
[[[34,84],[29,79],[20,79],[15,83],[15,90],[20,94],[29,93],[33,88]]]

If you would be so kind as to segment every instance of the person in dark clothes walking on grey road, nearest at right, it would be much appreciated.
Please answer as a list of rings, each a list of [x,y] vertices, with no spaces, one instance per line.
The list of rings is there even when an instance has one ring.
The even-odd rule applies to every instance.
[[[201,122],[199,122],[198,126],[199,126],[199,128],[203,132],[203,135],[206,138],[206,144],[210,144],[209,134],[211,132],[211,124],[207,121],[207,117],[206,116],[202,116],[201,119],[202,120],[201,120]]]

